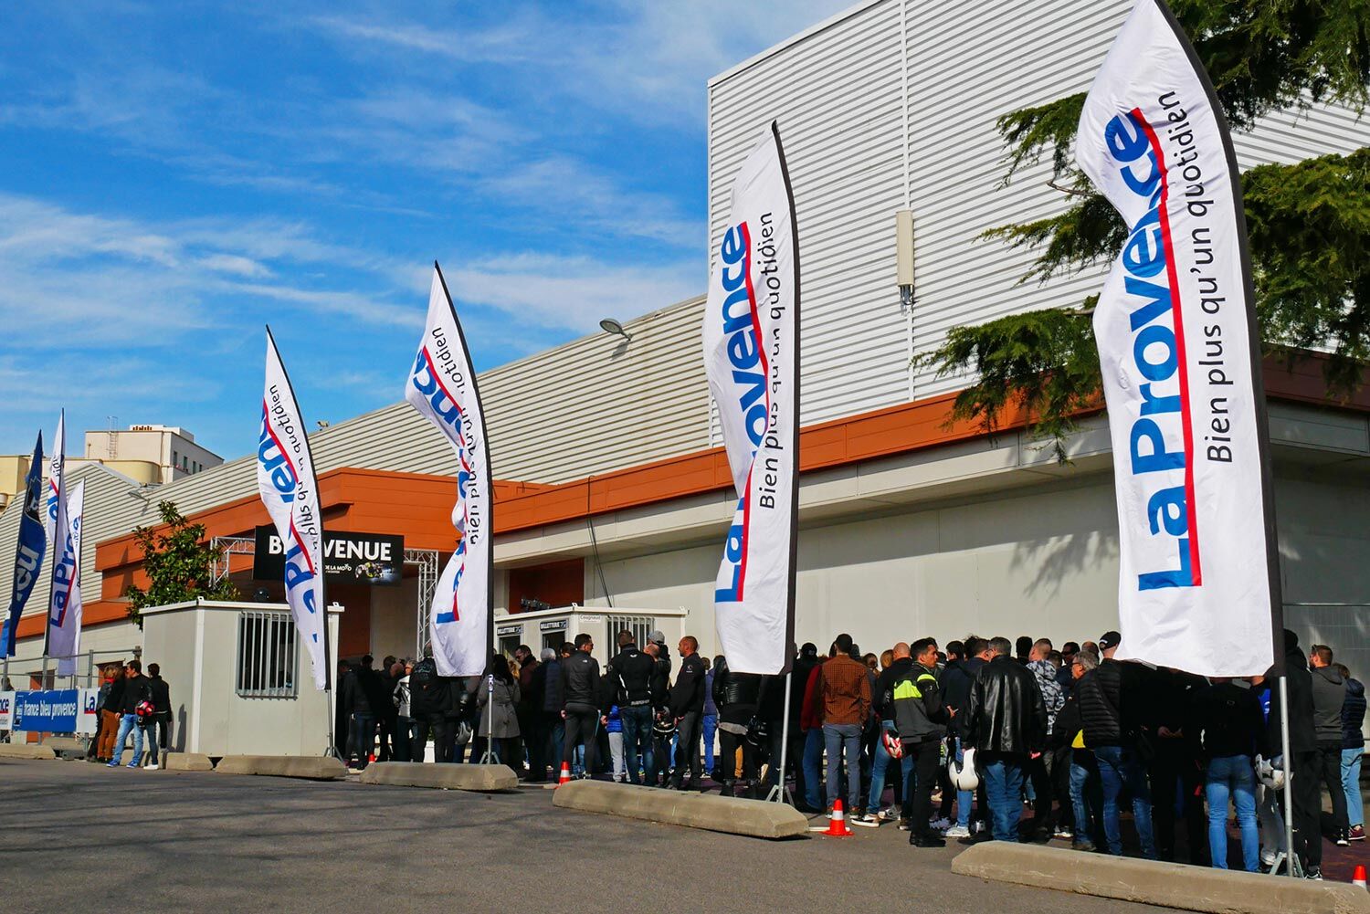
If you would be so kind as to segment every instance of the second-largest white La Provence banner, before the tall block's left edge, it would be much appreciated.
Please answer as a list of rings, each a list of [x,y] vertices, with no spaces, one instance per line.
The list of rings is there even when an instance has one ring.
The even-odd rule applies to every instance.
[[[770,133],[733,182],[704,306],[704,369],[737,508],[714,589],[737,673],[785,673],[795,634],[799,478],[799,251],[795,204]]]

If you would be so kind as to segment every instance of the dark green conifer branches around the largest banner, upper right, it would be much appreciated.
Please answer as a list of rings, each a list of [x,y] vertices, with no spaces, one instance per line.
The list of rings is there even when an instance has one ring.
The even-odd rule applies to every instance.
[[[1171,0],[1234,132],[1262,115],[1319,101],[1363,112],[1370,103],[1370,0]],[[1037,259],[1022,281],[1045,281],[1117,258],[1126,226],[1074,167],[1071,144],[1085,95],[999,119],[1007,185],[1049,155],[1052,186],[1071,204],[1059,215],[986,233]],[[1329,389],[1360,385],[1370,356],[1370,149],[1243,175],[1262,338],[1270,348],[1330,349]],[[1085,303],[1086,311],[1092,303]],[[919,362],[980,381],[956,399],[958,419],[993,430],[1006,408],[1028,410],[1033,430],[1062,439],[1071,414],[1096,403],[1097,352],[1080,303],[954,329]]]

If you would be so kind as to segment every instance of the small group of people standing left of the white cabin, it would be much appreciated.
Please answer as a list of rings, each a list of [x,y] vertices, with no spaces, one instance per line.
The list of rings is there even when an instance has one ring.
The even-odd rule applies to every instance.
[[[111,663],[101,671],[96,708],[100,719],[86,752],[89,761],[119,767],[132,737],[133,756],[126,767],[152,771],[160,767],[171,732],[171,688],[162,678],[162,667],[148,663],[148,674],[144,676],[142,660]]]

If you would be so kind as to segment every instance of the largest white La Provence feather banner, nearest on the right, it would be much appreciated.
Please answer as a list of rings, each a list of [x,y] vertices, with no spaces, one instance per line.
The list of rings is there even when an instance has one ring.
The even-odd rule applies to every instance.
[[[1278,556],[1240,174],[1160,0],[1138,0],[1075,158],[1129,229],[1095,311],[1118,495],[1119,658],[1204,676],[1281,654]]]

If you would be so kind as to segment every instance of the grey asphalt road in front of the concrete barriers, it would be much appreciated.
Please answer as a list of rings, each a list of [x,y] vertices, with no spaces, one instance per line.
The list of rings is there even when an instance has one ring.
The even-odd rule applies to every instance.
[[[7,914],[1159,910],[954,876],[960,850],[914,850],[892,825],[760,841],[558,810],[543,789],[0,761]]]

